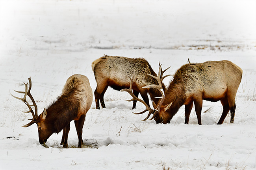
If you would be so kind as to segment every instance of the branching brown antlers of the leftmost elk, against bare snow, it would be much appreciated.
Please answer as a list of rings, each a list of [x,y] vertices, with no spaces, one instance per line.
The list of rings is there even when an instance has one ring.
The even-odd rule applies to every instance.
[[[32,113],[33,119],[28,119],[28,120],[31,120],[31,122],[29,122],[28,124],[23,125],[23,127],[28,127],[28,126],[31,126],[34,123],[37,123],[37,117],[38,117],[38,115],[37,115],[37,105],[36,105],[35,100],[33,99],[32,95],[30,93],[30,90],[31,90],[31,87],[32,87],[31,78],[28,78],[28,81],[29,81],[29,88],[28,88],[28,82],[24,83],[25,91],[16,91],[16,90],[14,90],[17,93],[24,94],[23,98],[19,98],[19,97],[16,97],[16,96],[11,94],[12,97],[14,97],[15,99],[19,99],[20,101],[24,102],[28,106],[29,110],[24,112],[24,113]],[[32,105],[30,105],[28,103],[28,101],[26,100],[27,96],[32,100],[32,103],[33,103]],[[32,106],[35,107],[35,113],[33,112],[32,108],[31,108]]]

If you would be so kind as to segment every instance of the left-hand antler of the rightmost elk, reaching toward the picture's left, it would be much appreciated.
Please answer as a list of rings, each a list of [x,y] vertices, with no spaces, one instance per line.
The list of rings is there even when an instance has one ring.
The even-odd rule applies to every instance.
[[[132,84],[133,84],[133,82],[134,82],[134,78],[133,78],[133,80],[132,80],[132,79],[129,77],[129,79],[130,79],[130,82],[131,82],[131,83],[130,83],[130,88],[129,88],[129,89],[122,89],[122,90],[120,90],[120,91],[126,91],[126,92],[128,92],[128,93],[132,96],[132,99],[126,100],[126,101],[139,101],[139,102],[143,103],[143,104],[146,106],[146,109],[145,109],[144,111],[142,111],[142,112],[139,112],[139,113],[134,113],[134,112],[133,112],[135,115],[139,115],[139,114],[142,114],[142,113],[145,113],[145,112],[149,111],[149,113],[148,113],[148,117],[149,117],[149,116],[151,115],[151,113],[154,113],[154,110],[152,110],[152,109],[150,108],[150,106],[148,106],[145,101],[139,99],[138,97],[136,97],[136,96],[134,95],[134,93],[132,93]],[[147,120],[148,117],[147,117],[146,119],[144,119],[143,121]]]

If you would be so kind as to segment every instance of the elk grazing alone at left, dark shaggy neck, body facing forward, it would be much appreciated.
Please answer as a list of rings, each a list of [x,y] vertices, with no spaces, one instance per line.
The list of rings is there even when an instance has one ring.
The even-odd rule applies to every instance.
[[[23,98],[12,95],[14,98],[21,100],[28,106],[29,110],[24,113],[32,113],[33,119],[29,119],[31,122],[23,125],[23,127],[29,127],[34,123],[37,124],[40,144],[45,144],[52,133],[59,133],[63,130],[60,144],[63,145],[63,148],[67,148],[70,121],[74,120],[78,135],[78,148],[81,148],[83,144],[82,132],[85,115],[93,102],[93,91],[87,77],[78,74],[69,77],[62,90],[61,96],[50,104],[48,108],[45,108],[43,113],[39,116],[37,115],[37,105],[30,93],[32,88],[31,78],[28,78],[28,81],[29,88],[28,83],[24,83],[25,91],[14,90],[17,93],[23,93]],[[26,99],[27,96],[31,99],[33,104],[29,104]],[[35,108],[35,112],[33,111],[32,106]]]

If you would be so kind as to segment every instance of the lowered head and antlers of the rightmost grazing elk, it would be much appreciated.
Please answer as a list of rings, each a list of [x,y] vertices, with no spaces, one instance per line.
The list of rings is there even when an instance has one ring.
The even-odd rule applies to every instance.
[[[170,68],[170,67],[169,67]],[[167,68],[167,69],[169,69]],[[158,81],[158,85],[156,84],[150,84],[148,86],[144,86],[143,88],[156,88],[157,90],[160,91],[161,93],[161,97],[156,97],[156,98],[160,98],[161,100],[158,102],[158,104],[156,105],[153,101],[153,107],[154,109],[151,109],[150,106],[148,106],[143,100],[135,97],[135,95],[132,93],[132,84],[134,82],[134,78],[133,80],[129,77],[130,79],[130,88],[129,89],[122,89],[121,91],[126,91],[128,92],[131,96],[132,96],[132,99],[130,100],[126,100],[126,101],[139,101],[139,102],[142,102],[145,106],[146,106],[146,109],[143,111],[143,112],[140,112],[140,113],[134,113],[134,114],[142,114],[142,113],[145,113],[147,111],[149,111],[147,117],[145,119],[143,119],[142,121],[146,121],[151,114],[153,114],[152,119],[154,119],[156,121],[156,123],[169,123],[171,119],[169,119],[169,117],[164,117],[163,115],[165,114],[161,114],[162,112],[165,112],[166,110],[168,110],[171,106],[172,103],[170,104],[167,104],[167,106],[162,106],[163,104],[163,101],[165,100],[165,94],[164,94],[164,90],[163,90],[163,87],[162,87],[162,82],[163,82],[163,79],[167,76],[170,76],[170,75],[165,75],[163,77],[163,73],[167,70],[162,70],[161,68],[161,64],[159,63],[159,71],[158,71],[158,76],[153,76],[153,75],[150,75],[148,74],[149,76],[153,77],[154,79],[156,79]]]

